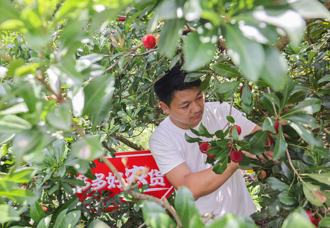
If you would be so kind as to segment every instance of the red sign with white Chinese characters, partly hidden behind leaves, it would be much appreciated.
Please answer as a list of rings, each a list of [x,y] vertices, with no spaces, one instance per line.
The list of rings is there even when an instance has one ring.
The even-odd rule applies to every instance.
[[[144,191],[144,194],[153,195],[157,198],[161,198],[162,196],[168,198],[174,191],[174,187],[166,179],[165,175],[160,174],[150,150],[118,152],[115,154],[115,158],[107,158],[117,168],[119,175],[123,179],[126,181],[138,181],[139,188],[143,184],[150,185]],[[97,159],[94,162],[96,168],[91,169],[91,171],[96,176],[96,179],[91,180],[82,174],[78,174],[76,178],[83,180],[86,186],[81,187],[83,193],[76,193],[76,195],[83,200],[83,198],[91,196],[91,193],[101,191],[102,189],[113,192],[113,194],[109,194],[111,197],[121,192],[122,185],[108,166],[99,162]],[[83,197],[86,190],[91,187],[93,191]],[[124,202],[124,200],[122,201]],[[114,208],[114,206],[110,207]]]

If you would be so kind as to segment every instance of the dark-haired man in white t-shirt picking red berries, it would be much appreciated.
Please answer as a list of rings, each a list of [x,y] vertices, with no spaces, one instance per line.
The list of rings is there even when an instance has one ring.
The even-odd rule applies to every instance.
[[[201,122],[211,134],[223,129],[230,110],[226,102],[205,103],[199,87],[201,81],[184,83],[185,75],[181,66],[178,66],[154,85],[160,107],[170,115],[150,136],[151,153],[161,173],[165,174],[176,190],[181,185],[191,190],[199,213],[215,212],[215,217],[227,212],[251,215],[256,211],[256,206],[248,193],[238,163],[229,163],[223,174],[215,174],[211,164],[205,164],[207,155],[200,152],[198,143],[188,143],[184,139],[185,133],[196,137],[189,126],[198,130]],[[261,129],[235,108],[232,108],[231,116],[235,124],[242,128],[239,140]],[[272,158],[271,154],[269,158]]]

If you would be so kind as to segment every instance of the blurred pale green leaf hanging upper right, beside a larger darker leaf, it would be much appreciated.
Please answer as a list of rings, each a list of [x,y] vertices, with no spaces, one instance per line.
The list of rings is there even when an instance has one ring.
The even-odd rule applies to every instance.
[[[279,90],[285,80],[287,64],[281,52],[274,47],[265,47],[264,65],[261,70],[261,79],[269,83],[274,90]]]

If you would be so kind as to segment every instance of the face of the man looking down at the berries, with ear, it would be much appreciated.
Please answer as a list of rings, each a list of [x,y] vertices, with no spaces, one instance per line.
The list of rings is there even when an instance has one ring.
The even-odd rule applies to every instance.
[[[199,87],[174,92],[170,107],[162,104],[162,109],[170,115],[170,120],[178,127],[189,129],[195,127],[202,120],[204,113],[205,97]],[[166,105],[165,105],[166,106]]]

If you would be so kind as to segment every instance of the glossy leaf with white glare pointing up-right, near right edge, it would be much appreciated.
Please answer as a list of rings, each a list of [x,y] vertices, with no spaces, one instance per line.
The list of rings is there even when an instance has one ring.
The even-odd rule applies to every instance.
[[[307,98],[300,102],[290,111],[282,114],[282,118],[287,115],[312,114],[321,109],[321,100],[317,98]]]

